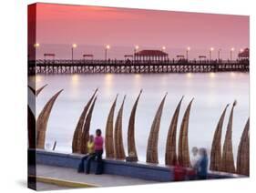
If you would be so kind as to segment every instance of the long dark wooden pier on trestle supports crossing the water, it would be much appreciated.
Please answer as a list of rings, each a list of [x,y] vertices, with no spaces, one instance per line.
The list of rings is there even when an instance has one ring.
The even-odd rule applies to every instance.
[[[36,60],[28,62],[28,74],[99,73],[210,73],[249,72],[249,60]]]

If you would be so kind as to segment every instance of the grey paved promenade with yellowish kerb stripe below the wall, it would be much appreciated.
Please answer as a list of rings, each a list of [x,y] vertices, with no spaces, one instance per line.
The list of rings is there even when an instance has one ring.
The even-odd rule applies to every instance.
[[[77,173],[77,170],[74,168],[60,168],[46,165],[37,165],[36,174],[38,177],[38,190],[63,189],[64,187],[116,187],[158,183],[156,181],[107,174],[86,175],[85,173]]]

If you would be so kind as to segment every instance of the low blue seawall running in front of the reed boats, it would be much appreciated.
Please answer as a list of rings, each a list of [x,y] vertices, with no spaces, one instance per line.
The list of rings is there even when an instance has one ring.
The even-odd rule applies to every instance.
[[[31,150],[29,150],[28,153],[31,153]],[[80,154],[64,154],[36,149],[36,164],[77,169],[80,159],[83,156],[84,155]],[[146,164],[141,162],[126,162],[124,160],[116,159],[104,159],[103,162],[105,174],[119,175],[130,178],[141,178],[159,182],[174,181],[173,167]],[[91,171],[94,172],[95,168],[96,162],[92,161]],[[210,171],[209,178],[244,178],[244,176]]]

